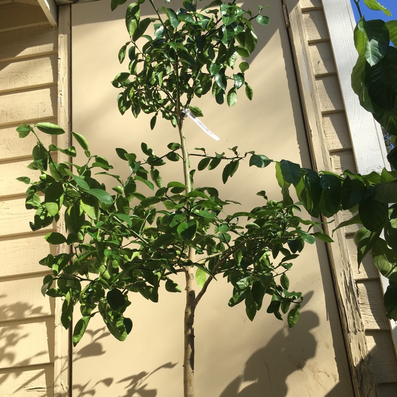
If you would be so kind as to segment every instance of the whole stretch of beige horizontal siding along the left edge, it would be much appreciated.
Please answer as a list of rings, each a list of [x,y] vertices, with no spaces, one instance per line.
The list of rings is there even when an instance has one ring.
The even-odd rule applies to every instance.
[[[56,228],[34,233],[25,209],[34,176],[33,136],[19,139],[20,123],[57,123],[58,29],[36,1],[0,1],[0,396],[54,396],[57,361],[56,304],[40,294],[46,268],[38,261],[57,247],[43,239]],[[51,136],[43,137],[51,143]],[[56,143],[56,142],[54,142]]]

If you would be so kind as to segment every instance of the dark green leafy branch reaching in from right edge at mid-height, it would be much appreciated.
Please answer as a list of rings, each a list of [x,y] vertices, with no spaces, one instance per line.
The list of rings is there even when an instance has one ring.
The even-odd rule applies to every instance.
[[[341,210],[354,214],[336,229],[352,224],[363,226],[354,236],[358,264],[371,254],[378,270],[390,280],[385,306],[388,317],[397,320],[397,172],[383,169],[381,174],[369,175],[350,171],[342,175],[316,173],[281,160],[276,164],[276,177],[284,205],[292,202],[288,192],[292,184],[301,204],[314,217],[330,217]]]

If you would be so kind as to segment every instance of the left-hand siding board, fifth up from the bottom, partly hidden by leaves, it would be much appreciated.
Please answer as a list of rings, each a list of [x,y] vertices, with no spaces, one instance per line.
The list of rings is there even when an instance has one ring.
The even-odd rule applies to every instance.
[[[34,218],[34,209],[25,209],[25,198],[4,199],[0,201],[0,237],[32,233],[29,222]],[[42,230],[54,228],[54,225],[47,226]]]

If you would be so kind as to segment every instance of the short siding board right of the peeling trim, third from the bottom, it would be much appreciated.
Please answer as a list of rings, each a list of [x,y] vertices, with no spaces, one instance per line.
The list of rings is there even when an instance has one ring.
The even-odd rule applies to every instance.
[[[365,330],[390,331],[379,279],[358,281],[357,291]]]

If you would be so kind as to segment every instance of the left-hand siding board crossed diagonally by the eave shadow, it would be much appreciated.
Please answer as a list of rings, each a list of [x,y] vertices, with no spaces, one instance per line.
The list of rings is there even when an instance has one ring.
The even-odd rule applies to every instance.
[[[56,54],[57,29],[37,26],[0,33],[0,61]]]

